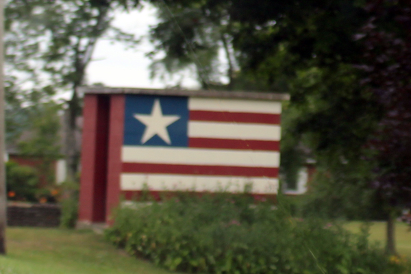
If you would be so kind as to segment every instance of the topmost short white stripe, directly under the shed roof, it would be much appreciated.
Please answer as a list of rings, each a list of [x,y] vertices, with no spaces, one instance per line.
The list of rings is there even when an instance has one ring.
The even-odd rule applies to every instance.
[[[190,97],[188,99],[188,110],[281,114],[281,103],[276,101]]]

